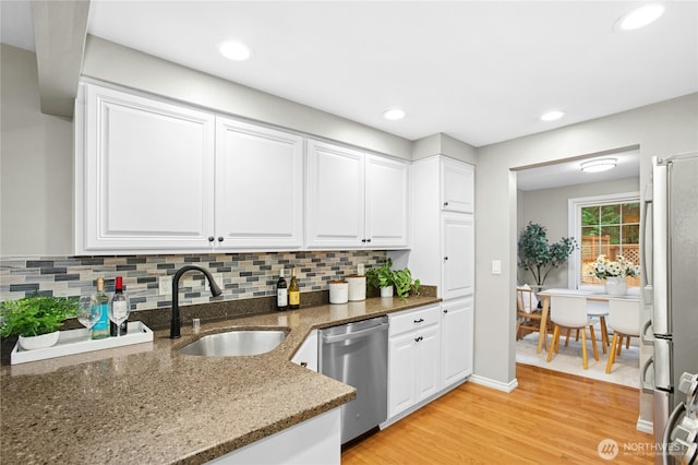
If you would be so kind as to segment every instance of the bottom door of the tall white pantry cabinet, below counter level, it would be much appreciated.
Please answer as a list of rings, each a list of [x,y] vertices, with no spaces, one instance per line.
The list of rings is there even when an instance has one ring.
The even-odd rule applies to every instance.
[[[473,307],[472,298],[442,303],[441,388],[472,374]]]

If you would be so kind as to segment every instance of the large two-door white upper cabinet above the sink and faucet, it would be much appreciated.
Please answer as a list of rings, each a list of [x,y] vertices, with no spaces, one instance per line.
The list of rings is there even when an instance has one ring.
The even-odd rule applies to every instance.
[[[81,87],[76,253],[302,248],[302,138]]]

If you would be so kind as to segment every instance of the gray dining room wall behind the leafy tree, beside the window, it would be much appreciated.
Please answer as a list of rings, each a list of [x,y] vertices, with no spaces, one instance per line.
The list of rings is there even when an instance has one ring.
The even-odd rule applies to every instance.
[[[593,182],[589,184],[568,186],[537,191],[518,191],[517,196],[517,238],[526,228],[528,222],[538,223],[545,227],[547,240],[553,243],[569,236],[568,203],[569,199],[604,195],[623,192],[639,192],[639,178],[626,178],[616,181]],[[553,270],[545,279],[545,287],[567,287],[567,265]],[[533,284],[529,272],[518,269],[518,283]]]

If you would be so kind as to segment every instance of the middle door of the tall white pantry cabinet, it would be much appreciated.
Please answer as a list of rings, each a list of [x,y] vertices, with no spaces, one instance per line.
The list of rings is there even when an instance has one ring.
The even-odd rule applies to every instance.
[[[472,295],[474,289],[474,225],[472,215],[442,217],[442,298]]]

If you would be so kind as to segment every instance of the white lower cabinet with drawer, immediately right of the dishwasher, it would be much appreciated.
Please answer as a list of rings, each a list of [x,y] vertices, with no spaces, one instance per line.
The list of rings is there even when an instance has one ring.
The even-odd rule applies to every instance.
[[[388,419],[440,390],[440,306],[389,315]]]

